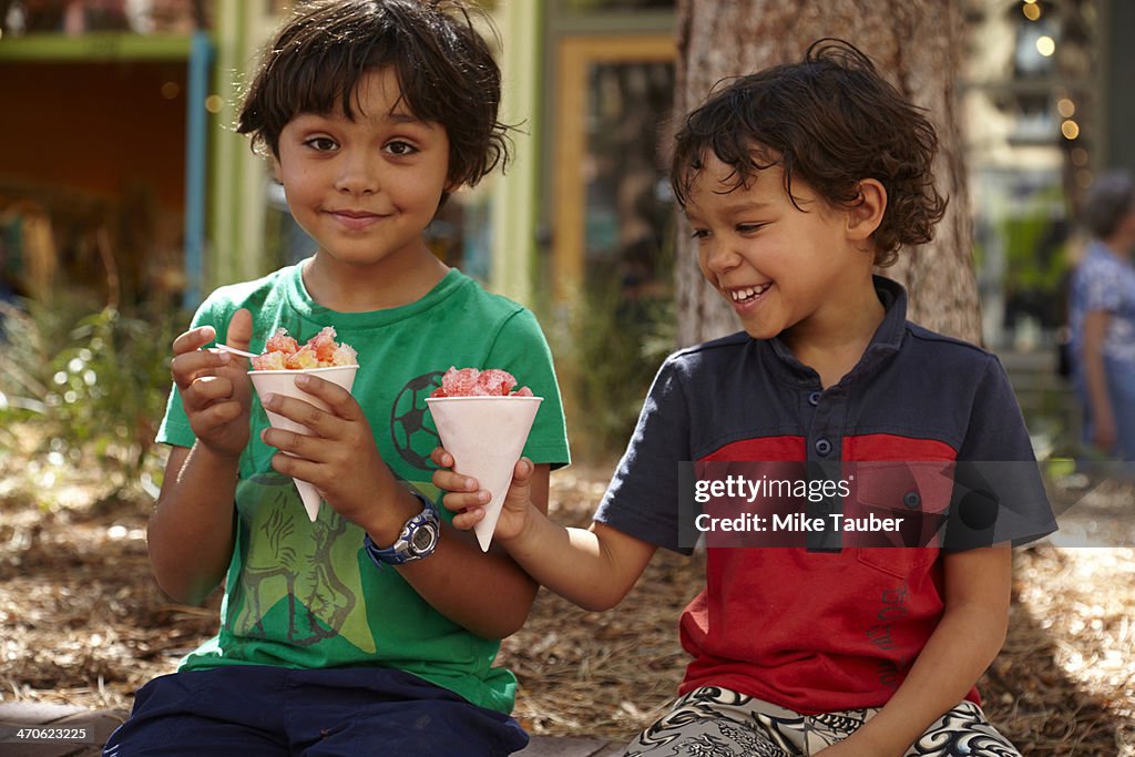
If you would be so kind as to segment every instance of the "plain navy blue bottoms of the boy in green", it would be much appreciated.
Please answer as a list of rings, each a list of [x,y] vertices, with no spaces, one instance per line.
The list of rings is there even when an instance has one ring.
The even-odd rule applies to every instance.
[[[495,757],[527,745],[507,715],[402,671],[232,665],[138,689],[103,757]]]

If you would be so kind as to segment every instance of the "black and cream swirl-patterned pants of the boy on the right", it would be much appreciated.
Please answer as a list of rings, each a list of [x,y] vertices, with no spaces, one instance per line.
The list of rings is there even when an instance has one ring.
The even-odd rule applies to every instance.
[[[696,689],[627,747],[625,757],[796,757],[814,755],[851,735],[877,713],[849,709],[800,715],[717,687]],[[1022,757],[962,701],[940,717],[905,757]]]

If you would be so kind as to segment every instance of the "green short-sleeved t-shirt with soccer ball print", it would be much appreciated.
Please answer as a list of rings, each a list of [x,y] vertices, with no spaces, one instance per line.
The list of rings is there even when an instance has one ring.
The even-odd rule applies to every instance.
[[[501,368],[537,396],[539,412],[524,454],[568,463],[563,407],[552,355],[536,318],[486,293],[456,269],[402,308],[339,313],[311,300],[300,266],[215,292],[194,316],[225,339],[239,308],[253,314],[252,351],[284,327],[302,344],[325,326],[359,351],[352,394],[395,476],[438,499],[428,461],[438,437],[424,398],[451,365]],[[378,665],[420,675],[491,709],[512,710],[516,679],[493,667],[499,642],[436,612],[393,567],[379,570],[362,548],[363,530],[323,504],[312,523],[292,479],[271,469],[260,440],[268,419],[252,405],[252,441],[236,488],[236,548],[225,582],[218,636],[182,670],[255,664],[287,667]],[[158,440],[192,446],[180,396],[171,394]],[[444,516],[449,516],[443,510]],[[480,587],[491,591],[491,587]]]

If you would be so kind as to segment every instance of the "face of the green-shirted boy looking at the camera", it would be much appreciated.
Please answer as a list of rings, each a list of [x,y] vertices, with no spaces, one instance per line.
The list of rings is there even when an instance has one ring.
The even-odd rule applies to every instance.
[[[280,133],[276,174],[296,222],[336,262],[410,262],[447,185],[449,141],[414,117],[393,69],[359,81],[354,120],[299,113]]]

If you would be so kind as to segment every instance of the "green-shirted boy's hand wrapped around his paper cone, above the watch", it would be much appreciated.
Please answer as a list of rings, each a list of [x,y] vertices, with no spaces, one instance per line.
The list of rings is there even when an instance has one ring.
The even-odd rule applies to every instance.
[[[351,393],[317,376],[297,376],[295,385],[326,402],[330,412],[284,395],[261,397],[274,413],[305,426],[311,435],[264,429],[260,438],[287,454],[272,456],[272,468],[314,486],[327,504],[360,523],[375,507],[376,493],[390,478],[370,423]]]

